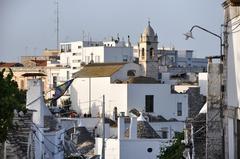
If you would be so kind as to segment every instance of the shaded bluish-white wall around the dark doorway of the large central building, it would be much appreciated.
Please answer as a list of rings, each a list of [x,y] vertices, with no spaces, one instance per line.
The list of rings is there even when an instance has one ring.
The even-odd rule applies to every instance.
[[[186,94],[171,94],[167,84],[129,84],[128,111],[136,108],[145,110],[145,96],[154,95],[154,113],[166,119],[185,120],[188,114],[188,97]],[[182,116],[177,116],[177,103],[182,103]]]

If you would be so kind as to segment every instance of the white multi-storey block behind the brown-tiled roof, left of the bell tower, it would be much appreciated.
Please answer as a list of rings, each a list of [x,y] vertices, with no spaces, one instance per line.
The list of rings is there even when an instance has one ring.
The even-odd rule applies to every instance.
[[[67,66],[71,74],[90,62],[123,62],[132,61],[133,48],[124,41],[75,41],[60,43],[60,64]]]

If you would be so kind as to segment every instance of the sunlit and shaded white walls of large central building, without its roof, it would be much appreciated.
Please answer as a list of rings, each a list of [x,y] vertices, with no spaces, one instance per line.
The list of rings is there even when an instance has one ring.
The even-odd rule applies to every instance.
[[[89,83],[91,82],[91,87]],[[89,99],[91,89],[91,99]],[[110,77],[77,78],[72,84],[72,107],[78,113],[88,113],[89,100],[93,116],[99,116],[102,109],[102,95],[105,95],[105,112],[112,116],[114,107],[118,112],[128,112],[136,108],[145,111],[145,96],[154,95],[154,113],[166,119],[185,120],[188,114],[186,94],[171,94],[167,84],[111,84]],[[177,116],[177,103],[182,103],[182,116]]]

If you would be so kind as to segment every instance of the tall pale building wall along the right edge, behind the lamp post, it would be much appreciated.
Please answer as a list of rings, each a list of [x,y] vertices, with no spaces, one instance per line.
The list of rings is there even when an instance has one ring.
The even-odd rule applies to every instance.
[[[224,145],[225,158],[231,159],[240,157],[240,4],[239,1],[226,0],[223,7],[225,12],[224,25],[226,26],[224,41],[227,41],[226,61],[223,63],[226,70],[226,77],[223,76],[223,81],[226,80],[224,83],[226,86],[224,104],[227,105],[227,110],[224,112]]]

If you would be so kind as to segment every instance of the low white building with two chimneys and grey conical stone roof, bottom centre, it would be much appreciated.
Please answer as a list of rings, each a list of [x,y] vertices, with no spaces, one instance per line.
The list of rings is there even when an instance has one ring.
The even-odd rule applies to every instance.
[[[124,117],[118,118],[118,137],[106,138],[106,159],[136,159],[157,158],[161,148],[172,144],[170,139],[161,139],[148,125],[148,122],[140,116],[131,118],[128,131],[125,131]],[[126,132],[129,135],[126,136]],[[96,138],[95,154],[102,155],[102,138]]]

